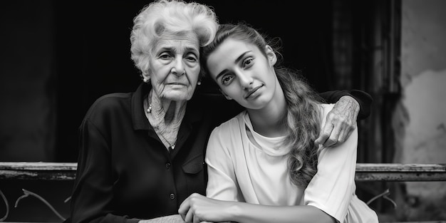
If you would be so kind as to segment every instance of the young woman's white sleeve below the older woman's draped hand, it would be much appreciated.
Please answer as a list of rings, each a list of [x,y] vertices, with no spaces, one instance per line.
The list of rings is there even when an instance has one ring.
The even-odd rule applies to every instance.
[[[333,106],[326,106],[326,113]],[[325,113],[325,114],[326,114]],[[355,193],[358,128],[341,145],[326,147],[318,157],[318,170],[304,192],[304,204],[318,207],[343,222]]]

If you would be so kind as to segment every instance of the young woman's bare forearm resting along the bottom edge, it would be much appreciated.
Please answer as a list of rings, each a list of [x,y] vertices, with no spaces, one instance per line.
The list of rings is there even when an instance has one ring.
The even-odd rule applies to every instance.
[[[299,223],[299,222],[336,222],[333,217],[310,205],[268,206],[234,202],[230,213],[231,222],[240,223]]]

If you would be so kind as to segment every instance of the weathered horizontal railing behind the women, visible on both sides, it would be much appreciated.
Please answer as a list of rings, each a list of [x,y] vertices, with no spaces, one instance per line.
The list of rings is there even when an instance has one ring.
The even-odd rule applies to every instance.
[[[76,169],[76,162],[0,162],[0,182],[1,180],[73,181],[76,177]],[[357,182],[446,181],[446,164],[358,163],[355,180]],[[55,214],[58,214],[51,204],[39,195],[27,190],[23,191],[24,195],[16,200],[16,204],[23,197],[31,195],[41,199]],[[6,208],[9,209],[1,187],[0,195],[6,202]],[[7,215],[6,212],[5,217],[0,216],[0,222],[6,219]],[[60,214],[58,217],[61,220],[64,219]]]

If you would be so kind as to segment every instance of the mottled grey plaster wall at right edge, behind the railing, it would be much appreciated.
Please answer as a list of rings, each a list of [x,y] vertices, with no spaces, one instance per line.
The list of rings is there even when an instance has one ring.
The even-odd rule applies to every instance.
[[[402,4],[403,99],[394,113],[395,162],[446,163],[446,1]],[[444,212],[446,182],[405,185],[408,195],[416,197],[414,208],[425,215]]]

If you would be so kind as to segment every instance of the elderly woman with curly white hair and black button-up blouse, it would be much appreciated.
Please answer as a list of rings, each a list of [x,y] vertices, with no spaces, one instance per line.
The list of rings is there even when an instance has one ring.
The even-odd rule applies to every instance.
[[[193,192],[204,195],[209,134],[241,109],[222,95],[195,89],[200,48],[213,40],[217,27],[212,9],[183,1],[155,1],[135,17],[131,55],[144,83],[132,93],[104,95],[86,113],[79,128],[71,222],[153,219],[177,214]],[[328,95],[333,101],[345,93]],[[346,109],[356,110],[348,117],[354,126],[356,100],[342,101],[339,108],[348,102]],[[343,124],[336,126],[341,126],[336,135],[348,132]],[[326,140],[329,134],[323,135]]]

